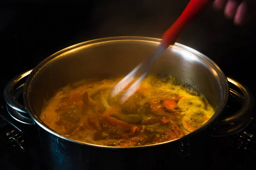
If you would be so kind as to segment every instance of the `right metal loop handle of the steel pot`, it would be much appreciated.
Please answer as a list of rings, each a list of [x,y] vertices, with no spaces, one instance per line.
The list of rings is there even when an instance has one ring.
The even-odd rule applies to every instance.
[[[230,95],[235,98],[241,99],[243,101],[243,105],[241,106],[239,111],[231,115],[220,117],[220,119],[215,122],[214,125],[210,126],[210,135],[213,137],[227,136],[238,133],[245,127],[247,127],[247,125],[253,119],[252,111],[255,102],[253,94],[241,82],[238,82],[229,77],[227,78],[227,80],[229,83],[231,83],[231,85],[235,85],[237,88],[240,89],[241,94],[230,88]]]

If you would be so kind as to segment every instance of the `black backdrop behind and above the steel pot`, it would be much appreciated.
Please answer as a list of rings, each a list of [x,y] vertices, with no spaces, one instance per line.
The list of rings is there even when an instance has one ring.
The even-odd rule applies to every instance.
[[[2,0],[0,80],[35,67],[70,45],[103,37],[160,38],[189,0]],[[254,93],[255,16],[235,26],[210,4],[177,42],[213,59]]]

